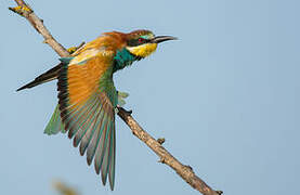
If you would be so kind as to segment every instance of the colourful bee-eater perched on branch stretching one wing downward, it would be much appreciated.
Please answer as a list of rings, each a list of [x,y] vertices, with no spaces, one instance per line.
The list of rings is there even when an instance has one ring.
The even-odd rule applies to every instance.
[[[90,166],[101,173],[103,185],[107,178],[115,186],[117,106],[128,93],[116,90],[113,75],[133,62],[149,56],[158,43],[175,40],[172,36],[155,36],[151,30],[104,32],[76,50],[69,57],[38,76],[16,91],[57,79],[58,103],[44,133],[63,132],[86,154]]]

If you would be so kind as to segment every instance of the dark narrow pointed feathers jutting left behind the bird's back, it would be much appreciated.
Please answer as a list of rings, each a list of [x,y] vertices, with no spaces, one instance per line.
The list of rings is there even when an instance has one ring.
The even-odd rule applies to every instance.
[[[34,88],[34,87],[39,86],[41,83],[49,82],[51,80],[56,79],[62,65],[63,65],[63,63],[61,63],[61,64],[56,65],[55,67],[49,69],[44,74],[41,74],[40,76],[38,76],[34,81],[18,88],[16,91]]]

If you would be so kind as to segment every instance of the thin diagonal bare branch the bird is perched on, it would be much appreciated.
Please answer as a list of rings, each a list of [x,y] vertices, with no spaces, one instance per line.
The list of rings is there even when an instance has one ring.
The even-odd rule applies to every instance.
[[[40,20],[31,10],[31,8],[23,0],[14,0],[18,6],[9,8],[11,11],[25,17],[32,27],[43,36],[45,43],[48,43],[61,57],[69,55],[68,51],[60,44],[50,31],[43,25],[43,21]],[[149,135],[131,116],[132,112],[127,112],[122,107],[118,107],[118,116],[128,125],[132,133],[144,142],[156,155],[160,158],[160,162],[168,165],[172,168],[185,182],[192,187],[199,191],[204,195],[221,195],[222,191],[213,191],[200,178],[198,178],[193,171],[192,167],[181,164],[175,157],[173,157],[161,144],[161,140],[157,141]]]

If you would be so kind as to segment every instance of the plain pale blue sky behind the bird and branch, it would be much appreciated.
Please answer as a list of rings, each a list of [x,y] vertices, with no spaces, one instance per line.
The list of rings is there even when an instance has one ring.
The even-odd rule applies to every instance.
[[[300,1],[38,1],[65,47],[110,30],[172,35],[151,57],[115,75],[126,108],[183,164],[225,195],[300,194]],[[43,129],[55,82],[15,90],[57,64],[29,23],[0,2],[0,193],[198,194],[117,118],[116,187],[103,186],[65,134]]]

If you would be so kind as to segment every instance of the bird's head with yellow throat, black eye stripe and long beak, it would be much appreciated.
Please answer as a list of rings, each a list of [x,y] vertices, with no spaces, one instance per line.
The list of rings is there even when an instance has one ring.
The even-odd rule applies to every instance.
[[[158,43],[175,39],[171,36],[156,37],[149,30],[134,30],[126,34],[126,49],[138,57],[146,57],[155,52]]]

